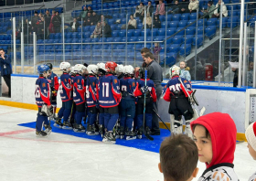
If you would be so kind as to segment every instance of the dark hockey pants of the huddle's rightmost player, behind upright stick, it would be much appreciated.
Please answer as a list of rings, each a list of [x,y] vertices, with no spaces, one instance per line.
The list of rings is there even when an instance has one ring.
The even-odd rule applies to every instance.
[[[143,126],[152,129],[152,112],[153,112],[153,99],[146,98],[145,100],[145,118],[144,118],[144,98],[139,98],[136,113],[137,113],[137,128],[141,128]],[[145,121],[145,125],[144,124]]]

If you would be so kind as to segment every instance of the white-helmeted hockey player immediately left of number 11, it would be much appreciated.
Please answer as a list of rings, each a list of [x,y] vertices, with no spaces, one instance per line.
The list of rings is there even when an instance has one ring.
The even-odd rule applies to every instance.
[[[99,131],[96,130],[95,123],[97,119],[97,109],[99,107],[99,102],[96,98],[96,92],[97,92],[97,83],[98,80],[96,78],[96,75],[98,74],[98,66],[97,65],[89,65],[87,67],[88,70],[88,77],[86,81],[86,102],[87,102],[87,108],[89,110],[89,126],[87,134],[88,135],[98,135]]]

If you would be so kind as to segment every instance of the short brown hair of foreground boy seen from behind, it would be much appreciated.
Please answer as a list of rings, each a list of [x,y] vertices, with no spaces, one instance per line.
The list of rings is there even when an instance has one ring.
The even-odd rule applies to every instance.
[[[176,134],[165,138],[159,154],[166,180],[187,180],[197,167],[197,145],[186,134]]]

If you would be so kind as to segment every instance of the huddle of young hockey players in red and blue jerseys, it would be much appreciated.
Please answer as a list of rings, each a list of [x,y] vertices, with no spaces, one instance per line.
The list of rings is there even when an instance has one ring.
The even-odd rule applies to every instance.
[[[156,94],[154,82],[145,80],[145,69],[140,69],[139,78],[135,79],[133,66],[112,61],[74,67],[62,62],[59,68],[63,71],[60,83],[51,72],[51,64],[37,68],[37,135],[51,133],[48,117],[54,118],[54,126],[61,129],[101,134],[102,142],[115,143],[116,138],[141,139],[143,133],[150,134]],[[62,107],[55,115],[58,91]]]

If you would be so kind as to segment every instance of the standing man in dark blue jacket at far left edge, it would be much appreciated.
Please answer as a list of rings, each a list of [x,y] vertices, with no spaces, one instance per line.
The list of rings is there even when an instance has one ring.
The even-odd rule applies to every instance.
[[[9,89],[8,97],[11,97],[12,61],[9,56],[5,55],[5,50],[3,48],[0,48],[0,71],[1,76],[4,78]]]

